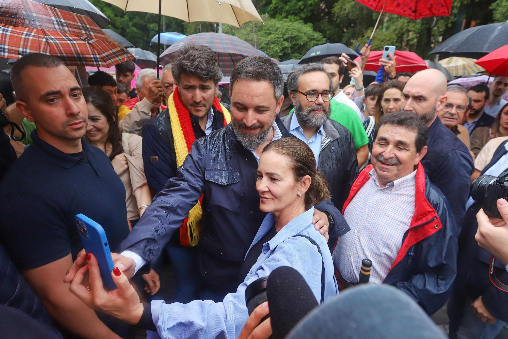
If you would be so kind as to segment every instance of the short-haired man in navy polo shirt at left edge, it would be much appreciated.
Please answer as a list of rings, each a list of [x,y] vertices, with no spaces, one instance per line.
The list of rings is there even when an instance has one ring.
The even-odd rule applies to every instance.
[[[106,154],[83,138],[88,112],[81,88],[60,60],[39,53],[14,63],[11,79],[16,107],[37,129],[0,182],[0,241],[71,335],[126,337],[126,324],[101,320],[63,283],[83,248],[76,214],[100,223],[112,250],[129,234],[125,188]]]

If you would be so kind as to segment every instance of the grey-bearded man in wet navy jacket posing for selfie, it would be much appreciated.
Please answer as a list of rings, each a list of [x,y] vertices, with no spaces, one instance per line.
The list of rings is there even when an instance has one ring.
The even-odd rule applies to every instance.
[[[177,75],[175,67],[173,62],[173,75]],[[175,80],[182,79],[175,76]],[[245,278],[239,275],[246,252],[266,216],[259,209],[256,191],[259,157],[272,140],[291,137],[277,117],[284,99],[283,81],[280,68],[265,56],[249,56],[235,65],[230,83],[231,123],[194,142],[174,177],[122,242],[125,251],[112,253],[115,266],[132,277],[146,263],[153,265],[202,199],[201,299],[218,302],[236,291],[239,279]],[[349,230],[330,201],[315,207],[312,222],[322,234],[328,236],[330,228],[330,236],[339,237]],[[72,280],[84,258],[82,253],[66,281]]]

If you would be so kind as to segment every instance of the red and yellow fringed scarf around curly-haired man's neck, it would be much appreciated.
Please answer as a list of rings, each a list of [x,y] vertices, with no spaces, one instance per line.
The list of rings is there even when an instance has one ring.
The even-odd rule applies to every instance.
[[[213,107],[224,115],[224,126],[229,124],[231,116],[223,105],[213,99]],[[169,119],[171,121],[171,129],[173,130],[173,140],[176,153],[176,165],[181,166],[183,160],[192,149],[192,144],[196,141],[192,123],[190,122],[190,114],[187,108],[182,104],[178,87],[169,96],[168,99]],[[198,203],[189,211],[189,215],[183,220],[180,226],[180,244],[190,247],[196,246],[201,233],[201,219],[203,217],[203,209],[201,203],[203,195],[201,195]]]

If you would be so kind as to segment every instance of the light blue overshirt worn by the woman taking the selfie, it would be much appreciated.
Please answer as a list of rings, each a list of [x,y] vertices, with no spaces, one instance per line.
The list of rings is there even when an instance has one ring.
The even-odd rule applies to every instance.
[[[151,302],[152,320],[158,334],[163,338],[236,338],[248,318],[245,306],[245,288],[260,277],[270,274],[280,266],[296,269],[309,285],[316,300],[321,299],[321,255],[308,239],[295,237],[303,234],[312,238],[321,248],[325,262],[325,300],[338,293],[333,274],[333,263],[325,237],[314,229],[314,208],[300,214],[285,225],[270,241],[263,244],[258,261],[245,277],[235,293],[228,294],[224,301],[196,300],[188,304],[166,304],[164,300]],[[250,248],[275,225],[269,213]],[[250,250],[249,248],[249,250]],[[157,337],[149,332],[148,338]]]

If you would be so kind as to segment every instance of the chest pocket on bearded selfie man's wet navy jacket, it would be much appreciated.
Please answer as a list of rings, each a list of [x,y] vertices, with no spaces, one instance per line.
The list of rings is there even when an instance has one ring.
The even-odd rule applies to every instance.
[[[240,205],[244,195],[240,172],[205,168],[205,199],[209,211],[227,209],[240,213]]]

